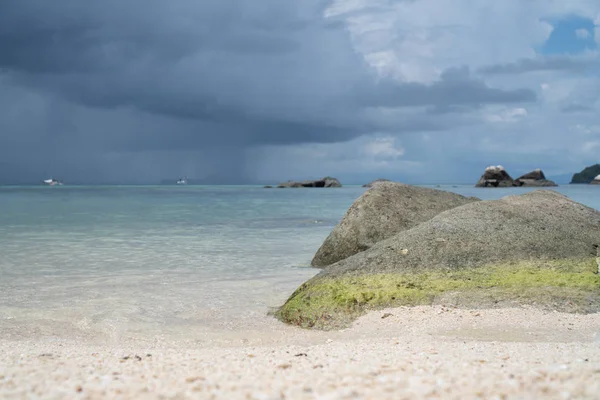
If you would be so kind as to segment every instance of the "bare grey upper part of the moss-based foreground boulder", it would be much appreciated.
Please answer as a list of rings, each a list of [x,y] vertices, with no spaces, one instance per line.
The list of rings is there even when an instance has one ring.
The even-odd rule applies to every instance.
[[[444,271],[593,257],[600,212],[550,190],[472,202],[375,244],[321,274]],[[599,288],[600,290],[600,288]]]

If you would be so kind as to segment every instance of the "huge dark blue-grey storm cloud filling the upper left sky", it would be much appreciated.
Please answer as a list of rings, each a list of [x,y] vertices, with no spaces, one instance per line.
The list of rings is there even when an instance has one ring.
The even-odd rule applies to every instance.
[[[177,151],[231,149],[219,159],[237,163],[249,146],[444,128],[424,112],[397,121],[367,112],[379,107],[535,100],[466,69],[431,85],[377,83],[343,21],[322,17],[328,4],[2,2],[0,156],[31,171],[85,163],[87,174],[114,152],[171,152],[160,156],[166,168]]]

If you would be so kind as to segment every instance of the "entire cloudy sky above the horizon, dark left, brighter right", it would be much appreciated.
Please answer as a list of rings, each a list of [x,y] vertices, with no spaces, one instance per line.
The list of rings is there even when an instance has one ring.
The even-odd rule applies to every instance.
[[[600,162],[598,0],[3,1],[0,49],[0,183]]]

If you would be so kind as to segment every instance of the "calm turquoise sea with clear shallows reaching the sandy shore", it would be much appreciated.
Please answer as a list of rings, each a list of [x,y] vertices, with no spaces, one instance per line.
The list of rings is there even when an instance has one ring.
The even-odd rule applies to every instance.
[[[364,190],[0,187],[0,335],[201,342],[260,331],[318,272],[313,254]],[[554,190],[600,209],[598,186]]]

